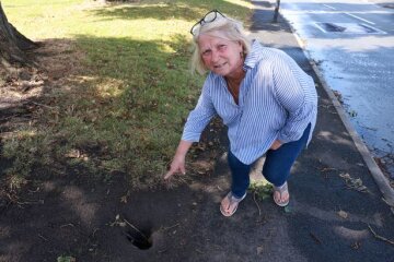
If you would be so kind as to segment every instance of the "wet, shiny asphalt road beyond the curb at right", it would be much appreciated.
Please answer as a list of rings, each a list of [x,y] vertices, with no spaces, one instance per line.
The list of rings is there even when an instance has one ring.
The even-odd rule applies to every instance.
[[[394,4],[287,0],[280,8],[310,59],[340,93],[355,129],[394,178]]]

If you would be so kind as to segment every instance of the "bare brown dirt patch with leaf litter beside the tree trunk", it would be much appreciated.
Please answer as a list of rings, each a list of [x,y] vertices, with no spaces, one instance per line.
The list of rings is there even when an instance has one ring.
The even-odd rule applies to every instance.
[[[83,53],[74,43],[47,39],[30,53],[37,67],[0,69],[0,139],[34,121],[40,108],[50,108],[46,95],[62,86],[80,70]]]

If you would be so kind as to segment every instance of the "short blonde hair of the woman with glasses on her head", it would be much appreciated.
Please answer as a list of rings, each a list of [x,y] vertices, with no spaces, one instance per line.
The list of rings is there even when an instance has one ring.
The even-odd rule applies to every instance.
[[[198,46],[199,36],[201,34],[209,34],[211,36],[215,36],[216,33],[219,33],[220,37],[224,36],[228,40],[240,41],[242,45],[244,57],[246,57],[246,55],[250,52],[252,40],[247,37],[242,26],[242,23],[227,16],[223,17],[218,14],[216,20],[200,25],[193,35],[194,52],[190,60],[190,69],[193,73],[198,72],[199,74],[204,74],[208,71],[207,67],[202,61],[200,49]]]

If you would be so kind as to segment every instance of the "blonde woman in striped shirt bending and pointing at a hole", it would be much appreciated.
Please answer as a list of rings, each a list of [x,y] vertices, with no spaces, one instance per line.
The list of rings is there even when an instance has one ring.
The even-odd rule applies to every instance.
[[[164,179],[185,174],[185,156],[210,119],[219,115],[228,127],[231,191],[220,211],[235,213],[246,196],[251,165],[266,154],[264,177],[274,184],[274,201],[289,203],[287,179],[316,122],[314,82],[285,52],[250,40],[235,20],[217,10],[190,31],[195,43],[193,69],[210,71],[196,108],[189,114],[182,140]]]

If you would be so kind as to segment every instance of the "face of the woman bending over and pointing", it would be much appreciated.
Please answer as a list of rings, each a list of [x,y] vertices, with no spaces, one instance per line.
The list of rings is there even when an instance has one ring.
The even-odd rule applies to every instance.
[[[213,73],[232,76],[242,70],[243,48],[240,41],[202,34],[198,37],[198,46],[205,66]]]

